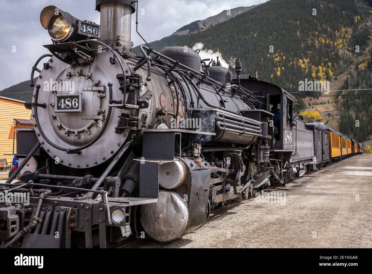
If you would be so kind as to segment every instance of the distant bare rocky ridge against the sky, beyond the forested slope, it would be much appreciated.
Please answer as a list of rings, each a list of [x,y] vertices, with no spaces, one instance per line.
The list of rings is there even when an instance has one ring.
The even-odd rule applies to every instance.
[[[174,32],[172,35],[189,35],[192,33],[196,33],[199,31],[203,31],[208,29],[211,26],[217,25],[219,23],[225,22],[231,18],[234,18],[240,13],[246,12],[248,10],[253,9],[254,7],[257,7],[259,5],[254,5],[250,7],[236,7],[231,10],[224,10],[223,12],[220,12],[219,14],[215,16],[208,17],[205,20],[197,20],[194,21],[186,26],[183,26],[182,28],[178,29],[176,32]]]

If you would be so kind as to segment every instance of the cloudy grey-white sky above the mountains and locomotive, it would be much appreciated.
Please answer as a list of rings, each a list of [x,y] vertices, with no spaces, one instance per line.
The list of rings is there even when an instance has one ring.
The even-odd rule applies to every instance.
[[[195,20],[206,19],[222,10],[252,6],[264,0],[139,0],[138,29],[148,42],[168,36]],[[40,24],[40,12],[54,5],[79,19],[99,24],[100,13],[95,0],[0,0],[0,90],[29,80],[32,65],[42,54],[49,53],[42,45],[51,43]],[[135,14],[133,14],[135,15]],[[142,43],[135,31],[132,16],[132,41]],[[203,41],[201,41],[203,42]],[[15,51],[15,52],[13,52]],[[40,67],[40,65],[39,65]],[[37,76],[37,72],[35,76]],[[6,95],[4,95],[6,96]]]

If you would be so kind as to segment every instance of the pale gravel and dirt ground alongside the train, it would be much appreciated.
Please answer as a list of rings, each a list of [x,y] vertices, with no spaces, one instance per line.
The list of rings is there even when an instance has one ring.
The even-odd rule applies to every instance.
[[[372,154],[357,155],[267,191],[285,194],[282,203],[231,203],[170,243],[140,239],[125,248],[370,248],[371,179]]]

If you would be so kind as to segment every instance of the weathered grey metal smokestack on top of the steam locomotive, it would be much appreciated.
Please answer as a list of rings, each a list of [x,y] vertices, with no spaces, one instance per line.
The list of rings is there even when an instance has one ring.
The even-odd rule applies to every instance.
[[[132,13],[135,3],[131,0],[96,0],[96,10],[101,13],[100,41],[109,46],[131,49]]]

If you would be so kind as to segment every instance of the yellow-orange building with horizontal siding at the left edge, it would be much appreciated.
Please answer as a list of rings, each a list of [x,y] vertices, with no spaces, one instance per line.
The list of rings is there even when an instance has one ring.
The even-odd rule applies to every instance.
[[[6,158],[9,165],[13,159],[13,136],[16,125],[28,123],[28,121],[22,120],[31,119],[31,110],[26,109],[24,103],[0,96],[0,159]],[[16,151],[16,143],[14,150]]]

